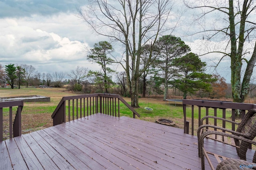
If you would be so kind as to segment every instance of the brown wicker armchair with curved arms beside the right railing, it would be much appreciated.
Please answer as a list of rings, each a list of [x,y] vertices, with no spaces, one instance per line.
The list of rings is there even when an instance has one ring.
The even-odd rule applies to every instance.
[[[206,117],[202,118],[201,124],[203,123],[204,119],[213,118],[213,119],[219,119],[219,120],[227,121],[227,122],[234,123],[234,124],[238,125],[238,128],[236,131],[232,131],[232,130],[214,126],[214,125],[201,125],[198,128],[198,156],[201,157],[201,160],[202,160],[202,162],[201,162],[202,170],[204,170],[204,156],[207,158],[212,170],[214,170],[212,163],[210,161],[210,158],[207,155],[207,154],[214,155],[214,153],[207,152],[204,148],[204,138],[209,139],[210,135],[220,135],[221,140],[217,140],[217,139],[213,139],[213,140],[236,147],[236,152],[237,152],[238,156],[240,157],[240,159],[246,160],[246,152],[248,150],[248,146],[250,144],[256,145],[256,142],[252,141],[254,139],[254,137],[256,137],[256,114],[255,113],[256,113],[256,109],[251,109],[250,111],[248,111],[248,113],[246,113],[246,115],[242,119],[241,123],[236,123],[234,121],[230,121],[227,119],[223,119],[220,117],[214,117],[214,116],[206,116]],[[206,127],[219,129],[219,130],[222,130],[222,132],[216,131],[216,130],[214,130],[214,131],[208,130]],[[226,132],[230,132],[231,134],[226,133]],[[228,139],[228,137],[230,137],[230,139],[234,139],[234,143],[230,144],[229,142],[224,140],[224,139]],[[210,138],[210,139],[212,139],[212,138]],[[218,155],[218,156],[222,157],[220,155]],[[222,158],[224,160],[227,159],[224,156]],[[218,160],[218,162],[221,162],[220,159],[217,159],[217,160]],[[256,154],[254,154],[253,162],[254,163],[256,162]]]

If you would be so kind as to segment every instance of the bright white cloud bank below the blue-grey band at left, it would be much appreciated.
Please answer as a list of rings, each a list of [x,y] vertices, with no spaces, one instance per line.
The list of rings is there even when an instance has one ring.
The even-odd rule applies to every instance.
[[[0,19],[0,63],[3,66],[10,63],[31,64],[41,73],[67,72],[76,66],[84,66],[92,70],[99,68],[98,66],[92,67],[92,64],[86,61],[86,53],[82,46],[88,46],[88,44],[58,35],[61,32],[60,28],[79,34],[76,30],[66,30],[65,27],[71,25],[72,21],[66,20],[65,23],[63,21],[58,23],[58,17],[53,17],[53,21],[56,22],[52,30],[50,29],[52,22],[49,21],[41,27],[42,23],[31,20],[31,18],[30,20],[27,20],[28,18]],[[40,19],[39,16],[38,18]],[[88,31],[84,32],[88,33]]]

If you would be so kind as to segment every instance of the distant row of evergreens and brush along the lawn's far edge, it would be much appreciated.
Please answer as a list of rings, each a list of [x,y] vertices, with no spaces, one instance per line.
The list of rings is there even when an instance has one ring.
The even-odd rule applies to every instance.
[[[113,93],[113,89],[116,89],[114,93],[130,97],[126,72],[115,72],[110,68],[110,65],[115,63],[112,59],[113,52],[112,45],[107,41],[95,43],[94,48],[88,50],[87,59],[100,65],[101,70],[98,71],[77,66],[75,70],[66,73],[40,74],[34,66],[28,64],[16,66],[9,64],[5,68],[1,66],[0,70],[3,73],[1,83],[6,82],[11,88],[14,88],[14,84],[20,88],[20,85],[61,87],[63,83],[68,83],[68,89],[76,92]],[[149,53],[152,53],[151,59],[148,58]],[[183,98],[188,94],[196,94],[198,90],[208,92],[208,97],[211,98],[225,96],[223,84],[223,90],[218,87],[214,91],[215,85],[218,84],[216,81],[223,83],[223,78],[204,73],[206,63],[202,62],[198,55],[191,53],[190,47],[179,37],[173,35],[160,37],[155,45],[146,45],[142,49],[141,58],[138,92],[142,97],[156,93],[164,94],[163,100],[166,100],[170,87],[183,92]],[[145,65],[147,68],[142,69]],[[113,81],[112,75],[116,75],[114,77],[116,82]],[[69,79],[64,80],[64,77]],[[216,92],[218,95],[214,94]]]

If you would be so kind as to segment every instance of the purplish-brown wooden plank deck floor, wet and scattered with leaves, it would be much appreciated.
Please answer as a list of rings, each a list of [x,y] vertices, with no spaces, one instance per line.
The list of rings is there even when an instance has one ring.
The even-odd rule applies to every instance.
[[[237,158],[229,147],[205,143],[210,150]],[[2,141],[0,150],[0,169],[5,170],[201,169],[196,136],[101,113]]]

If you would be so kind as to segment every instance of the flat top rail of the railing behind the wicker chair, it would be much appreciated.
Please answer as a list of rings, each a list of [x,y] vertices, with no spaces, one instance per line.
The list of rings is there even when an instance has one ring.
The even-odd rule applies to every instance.
[[[223,101],[212,101],[212,100],[188,100],[183,99],[182,104],[195,105],[201,107],[212,107],[212,108],[222,108],[222,109],[241,109],[250,110],[256,108],[256,104],[247,103],[234,103],[234,102],[223,102]]]

